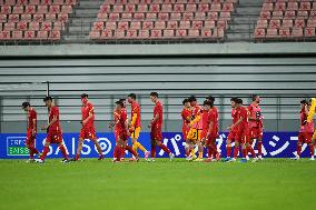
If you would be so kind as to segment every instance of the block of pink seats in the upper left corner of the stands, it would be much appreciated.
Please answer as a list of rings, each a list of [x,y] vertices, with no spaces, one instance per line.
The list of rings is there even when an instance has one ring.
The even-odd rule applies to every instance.
[[[59,41],[77,0],[0,0],[0,41]]]

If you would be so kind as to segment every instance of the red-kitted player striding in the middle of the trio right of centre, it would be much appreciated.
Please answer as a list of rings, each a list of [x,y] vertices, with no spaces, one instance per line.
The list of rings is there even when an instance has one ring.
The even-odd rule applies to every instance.
[[[243,107],[241,99],[237,99],[237,112],[238,112],[238,121],[229,127],[229,130],[237,128],[235,148],[238,147],[238,150],[239,150],[239,144],[241,144],[243,159],[240,160],[240,162],[247,162],[246,156],[248,151],[251,153],[254,158],[253,162],[256,162],[258,161],[258,158],[256,157],[254,149],[249,144],[249,141],[250,141],[249,121],[248,121],[249,112],[247,108]],[[237,153],[235,153],[234,151],[234,159],[236,160],[236,158],[237,158]]]

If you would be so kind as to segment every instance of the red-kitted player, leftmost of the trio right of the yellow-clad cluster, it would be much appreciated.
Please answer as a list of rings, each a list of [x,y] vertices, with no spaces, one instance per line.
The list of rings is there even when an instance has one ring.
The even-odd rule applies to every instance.
[[[236,98],[236,97],[233,97],[230,99],[233,124],[235,124],[238,121],[237,101],[238,101],[238,98]],[[229,128],[228,128],[228,130],[229,130]],[[227,137],[227,140],[226,140],[226,159],[225,159],[225,161],[236,161],[236,159],[231,159],[231,143],[235,142],[236,137],[237,137],[237,127],[229,130],[229,133],[228,133],[228,137]],[[235,152],[238,153],[238,151],[239,151],[239,146],[234,147],[234,153]]]

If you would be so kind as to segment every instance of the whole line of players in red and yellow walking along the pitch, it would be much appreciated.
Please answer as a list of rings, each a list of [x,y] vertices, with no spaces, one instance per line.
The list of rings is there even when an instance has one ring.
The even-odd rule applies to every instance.
[[[146,148],[138,142],[139,133],[141,131],[141,112],[136,94],[130,93],[127,99],[116,101],[116,108],[113,110],[115,120],[109,124],[109,128],[115,128],[116,137],[113,162],[124,161],[126,150],[132,154],[130,161],[139,161],[138,150],[141,150],[145,153],[145,160],[155,161],[157,147],[162,149],[169,156],[170,160],[175,158],[175,154],[162,143],[162,103],[159,100],[157,92],[151,92],[149,97],[151,102],[155,104],[154,117],[151,122],[148,124],[150,128],[150,151],[146,150]],[[240,148],[240,162],[248,161],[248,153],[251,154],[254,162],[263,160],[261,148],[264,123],[259,107],[260,97],[251,96],[251,99],[253,102],[248,107],[244,107],[243,100],[239,98],[230,99],[233,123],[227,128],[229,134],[226,141],[226,158],[224,161],[236,161]],[[127,117],[126,101],[131,106],[130,120]],[[303,143],[308,144],[310,150],[310,160],[314,160],[316,134],[314,133],[314,123],[312,119],[316,110],[316,100],[314,103],[312,101],[313,100],[310,100],[309,103],[305,100],[300,101],[300,130],[297,143],[297,156],[294,158],[295,160],[299,159]],[[101,147],[98,143],[98,138],[96,136],[93,104],[89,101],[88,94],[81,94],[81,130],[76,156],[71,159],[69,159],[62,142],[62,130],[59,122],[59,108],[53,103],[51,97],[46,97],[43,102],[49,109],[49,121],[41,128],[47,131],[42,152],[39,152],[34,147],[37,134],[37,112],[29,102],[22,103],[22,109],[28,113],[26,144],[30,151],[29,161],[39,163],[45,162],[51,143],[58,144],[58,148],[63,156],[62,162],[78,161],[80,160],[85,139],[90,139],[95,143],[99,153],[98,160],[103,160]],[[198,104],[197,99],[194,96],[182,101],[182,136],[186,141],[185,150],[186,159],[188,161],[210,162],[220,160],[220,153],[216,146],[216,139],[218,138],[219,113],[218,109],[214,106],[214,102],[215,98],[211,96],[206,98],[203,106]],[[131,139],[131,147],[128,144],[129,138]],[[255,153],[253,148],[254,140],[256,140],[258,154]],[[234,148],[233,142],[235,142]],[[207,156],[204,156],[205,148]],[[198,152],[198,156],[196,156],[196,152]],[[34,154],[38,156],[37,159],[34,159]],[[204,157],[207,157],[207,159],[204,160]]]

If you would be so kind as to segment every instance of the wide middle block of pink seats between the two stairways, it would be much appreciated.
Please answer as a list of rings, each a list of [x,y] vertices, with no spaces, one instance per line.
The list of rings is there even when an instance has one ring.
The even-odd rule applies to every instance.
[[[96,41],[223,41],[237,0],[106,0],[89,33]]]

